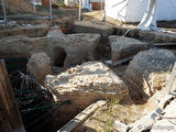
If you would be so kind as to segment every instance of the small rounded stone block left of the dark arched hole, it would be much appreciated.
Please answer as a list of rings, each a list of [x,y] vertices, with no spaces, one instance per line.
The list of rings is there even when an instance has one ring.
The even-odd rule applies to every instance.
[[[35,53],[26,64],[26,70],[43,84],[46,75],[52,74],[51,58],[45,53]]]

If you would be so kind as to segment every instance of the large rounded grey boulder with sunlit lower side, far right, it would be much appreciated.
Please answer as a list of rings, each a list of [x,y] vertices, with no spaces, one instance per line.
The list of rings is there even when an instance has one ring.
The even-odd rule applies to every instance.
[[[133,99],[151,97],[166,86],[176,56],[167,50],[140,52],[123,76]]]

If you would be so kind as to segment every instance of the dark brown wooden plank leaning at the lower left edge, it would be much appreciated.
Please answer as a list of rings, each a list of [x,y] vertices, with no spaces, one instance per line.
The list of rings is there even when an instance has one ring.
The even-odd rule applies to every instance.
[[[0,102],[1,113],[4,113],[12,131],[25,132],[23,122],[15,102],[4,62],[0,59]],[[7,131],[8,132],[8,131]]]

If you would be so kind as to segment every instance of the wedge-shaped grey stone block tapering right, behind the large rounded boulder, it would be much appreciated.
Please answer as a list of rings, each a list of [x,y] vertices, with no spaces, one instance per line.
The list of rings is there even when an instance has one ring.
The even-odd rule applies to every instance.
[[[112,62],[118,62],[147,48],[146,43],[125,36],[112,35],[109,36],[109,42]]]

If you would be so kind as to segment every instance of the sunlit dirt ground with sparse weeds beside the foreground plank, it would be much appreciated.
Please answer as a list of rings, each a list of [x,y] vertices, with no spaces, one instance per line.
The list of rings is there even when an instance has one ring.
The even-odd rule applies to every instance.
[[[114,121],[125,124],[134,123],[143,116],[145,105],[134,105],[129,97],[122,102],[109,100],[105,107],[98,109],[75,132],[117,132]]]

